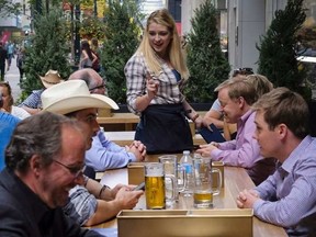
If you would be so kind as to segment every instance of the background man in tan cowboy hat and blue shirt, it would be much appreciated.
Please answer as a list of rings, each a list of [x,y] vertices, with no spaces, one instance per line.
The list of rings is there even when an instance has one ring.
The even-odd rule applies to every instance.
[[[44,77],[40,76],[40,79],[44,86],[44,89],[34,90],[32,94],[30,94],[20,104],[20,106],[22,106],[30,114],[36,114],[41,111],[42,109],[41,94],[45,89],[64,81],[57,70],[50,70],[50,69],[45,74]]]

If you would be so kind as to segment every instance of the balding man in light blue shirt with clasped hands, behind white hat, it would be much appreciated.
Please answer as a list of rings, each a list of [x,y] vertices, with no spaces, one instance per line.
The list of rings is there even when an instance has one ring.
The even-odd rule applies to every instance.
[[[93,69],[77,70],[69,77],[69,80],[74,79],[83,80],[92,94],[105,93],[105,83]],[[121,147],[106,139],[100,129],[93,137],[91,148],[86,153],[86,163],[95,171],[104,171],[126,167],[128,162],[143,161],[145,155],[146,147],[139,140],[134,140],[128,147]]]

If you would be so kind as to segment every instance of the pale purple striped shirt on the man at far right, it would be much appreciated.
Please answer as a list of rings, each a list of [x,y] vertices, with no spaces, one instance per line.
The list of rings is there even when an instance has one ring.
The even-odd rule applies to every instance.
[[[316,139],[306,136],[273,176],[256,188],[255,215],[289,236],[316,233]],[[313,235],[314,234],[314,235]]]

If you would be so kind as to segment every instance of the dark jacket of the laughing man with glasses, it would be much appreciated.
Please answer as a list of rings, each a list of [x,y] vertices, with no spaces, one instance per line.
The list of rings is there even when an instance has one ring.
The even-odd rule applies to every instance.
[[[101,236],[49,208],[7,168],[0,173],[0,236],[5,237],[93,237]]]

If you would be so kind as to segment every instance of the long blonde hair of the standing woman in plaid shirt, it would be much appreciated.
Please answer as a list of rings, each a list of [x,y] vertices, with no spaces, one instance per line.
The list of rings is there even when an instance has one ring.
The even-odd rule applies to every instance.
[[[167,9],[160,9],[160,10],[154,11],[149,15],[145,32],[143,35],[143,41],[137,49],[137,53],[144,55],[145,61],[150,72],[154,72],[156,76],[158,76],[161,71],[161,63],[157,54],[155,53],[155,50],[149,44],[148,30],[151,23],[167,26],[169,32],[172,34],[170,44],[168,46],[169,58],[174,69],[179,71],[179,74],[184,80],[187,80],[190,77],[190,72],[188,70],[188,67],[185,65],[185,61],[181,52],[180,37],[177,32],[176,22]]]

